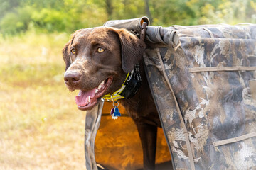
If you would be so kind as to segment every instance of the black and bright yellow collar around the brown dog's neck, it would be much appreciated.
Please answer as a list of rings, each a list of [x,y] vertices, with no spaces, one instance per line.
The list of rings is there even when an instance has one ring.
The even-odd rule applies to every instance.
[[[105,101],[117,101],[122,98],[132,98],[139,90],[141,84],[142,77],[139,73],[139,63],[137,63],[132,72],[127,74],[127,77],[121,88],[115,91],[113,94],[107,94],[103,96],[103,99]]]

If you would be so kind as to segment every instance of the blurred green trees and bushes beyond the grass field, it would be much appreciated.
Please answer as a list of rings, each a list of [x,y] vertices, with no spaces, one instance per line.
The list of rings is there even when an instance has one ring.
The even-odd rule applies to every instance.
[[[110,19],[140,16],[150,16],[154,26],[256,23],[256,0],[0,0],[0,4],[4,35],[31,29],[72,33]]]

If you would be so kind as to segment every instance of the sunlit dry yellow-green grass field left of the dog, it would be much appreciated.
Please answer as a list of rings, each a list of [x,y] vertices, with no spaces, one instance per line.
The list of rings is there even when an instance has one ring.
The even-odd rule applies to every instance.
[[[85,112],[65,88],[66,34],[0,37],[0,169],[85,169]]]

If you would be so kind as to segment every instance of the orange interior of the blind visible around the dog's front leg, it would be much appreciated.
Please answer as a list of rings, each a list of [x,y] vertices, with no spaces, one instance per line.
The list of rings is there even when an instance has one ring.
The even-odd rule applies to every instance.
[[[105,102],[100,128],[95,140],[96,162],[109,169],[139,169],[143,166],[142,146],[133,120],[125,115],[124,108],[119,105],[123,115],[112,120],[110,110],[112,103]],[[106,116],[107,115],[107,116]],[[164,132],[158,128],[156,148],[156,164],[171,160]]]

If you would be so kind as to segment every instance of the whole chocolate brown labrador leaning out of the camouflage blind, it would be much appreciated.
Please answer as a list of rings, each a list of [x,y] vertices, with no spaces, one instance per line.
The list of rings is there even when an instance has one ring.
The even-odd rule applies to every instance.
[[[63,49],[64,80],[70,91],[80,90],[75,101],[80,110],[86,111],[96,106],[106,94],[114,94],[120,89],[127,81],[128,73],[136,72],[141,81],[140,88],[136,94],[133,91],[132,97],[128,95],[119,103],[137,125],[144,169],[154,169],[156,132],[161,123],[143,68],[144,49],[144,42],[125,29],[77,30]],[[134,71],[136,65],[137,71]]]

